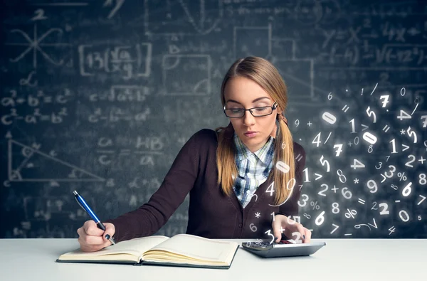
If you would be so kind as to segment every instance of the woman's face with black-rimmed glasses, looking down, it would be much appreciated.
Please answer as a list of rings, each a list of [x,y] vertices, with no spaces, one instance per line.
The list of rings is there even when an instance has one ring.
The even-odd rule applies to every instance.
[[[244,77],[228,80],[224,89],[224,96],[226,109],[244,108],[247,110],[252,107],[271,106],[275,102],[260,85]],[[251,152],[256,152],[268,141],[270,134],[276,127],[276,117],[278,113],[281,113],[278,110],[279,108],[276,108],[271,115],[263,117],[253,117],[251,112],[246,111],[243,117],[229,118],[234,131]],[[245,133],[248,131],[256,132],[255,136],[246,135]]]

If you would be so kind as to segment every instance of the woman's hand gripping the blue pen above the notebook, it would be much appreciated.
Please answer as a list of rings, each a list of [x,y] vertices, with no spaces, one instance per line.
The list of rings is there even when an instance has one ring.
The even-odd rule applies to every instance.
[[[95,221],[85,221],[81,228],[78,228],[78,243],[83,252],[95,252],[111,245],[110,240],[105,235],[114,235],[115,227],[112,223],[104,223],[105,231],[97,228]]]

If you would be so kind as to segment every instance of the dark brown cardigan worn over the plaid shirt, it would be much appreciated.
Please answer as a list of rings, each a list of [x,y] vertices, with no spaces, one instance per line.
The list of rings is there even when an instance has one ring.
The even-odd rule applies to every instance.
[[[234,193],[231,196],[224,195],[221,186],[216,183],[217,146],[214,130],[201,129],[193,134],[179,151],[162,185],[147,203],[135,211],[105,221],[114,224],[117,242],[156,233],[167,223],[188,193],[189,221],[186,233],[206,238],[270,239],[271,236],[265,234],[265,231],[270,229],[273,234],[271,213],[297,216],[297,201],[305,166],[305,151],[300,144],[294,142],[295,157],[300,154],[302,158],[300,161],[295,160],[296,184],[288,201],[279,207],[268,206],[275,205],[275,193],[270,195],[270,192],[265,192],[271,183],[267,180],[258,187],[256,196],[253,196],[246,208],[242,208]],[[257,213],[259,218],[255,215]]]

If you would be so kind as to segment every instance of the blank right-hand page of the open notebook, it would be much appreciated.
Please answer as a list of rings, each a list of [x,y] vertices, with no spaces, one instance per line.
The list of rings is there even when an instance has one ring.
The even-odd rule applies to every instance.
[[[198,260],[223,262],[233,255],[238,243],[212,240],[189,234],[178,234],[160,243],[152,250],[167,250]]]

